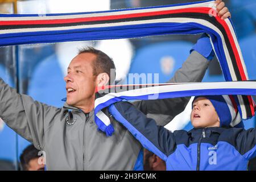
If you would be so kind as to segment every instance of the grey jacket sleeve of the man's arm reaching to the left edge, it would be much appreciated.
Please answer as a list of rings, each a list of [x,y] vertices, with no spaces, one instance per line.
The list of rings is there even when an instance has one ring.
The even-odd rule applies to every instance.
[[[16,90],[0,78],[0,117],[16,133],[42,150],[44,131],[60,109],[32,100],[16,93]]]

